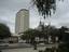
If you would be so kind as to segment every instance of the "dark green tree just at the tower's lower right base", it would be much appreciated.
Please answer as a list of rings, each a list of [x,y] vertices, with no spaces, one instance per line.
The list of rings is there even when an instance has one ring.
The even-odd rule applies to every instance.
[[[39,31],[37,29],[28,29],[22,35],[22,39],[26,39],[27,41],[30,40],[31,43],[33,43],[36,37],[39,37]]]

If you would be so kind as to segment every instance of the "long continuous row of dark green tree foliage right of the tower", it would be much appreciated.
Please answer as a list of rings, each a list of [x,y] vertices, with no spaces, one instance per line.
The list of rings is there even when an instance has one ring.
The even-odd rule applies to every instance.
[[[57,42],[68,42],[69,34],[65,32],[67,30],[68,28],[66,27],[56,28],[54,26],[45,26],[42,30],[28,29],[23,32],[22,39],[34,41],[34,38],[39,37],[40,39],[43,38],[44,40],[46,39],[49,41],[49,37],[51,36],[52,42],[56,42],[55,37],[58,37]]]

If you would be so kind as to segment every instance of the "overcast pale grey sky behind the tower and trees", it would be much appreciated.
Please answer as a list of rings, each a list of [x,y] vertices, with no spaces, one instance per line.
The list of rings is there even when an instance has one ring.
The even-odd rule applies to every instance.
[[[69,27],[69,0],[57,1],[56,8],[56,13],[50,18],[46,17],[45,23],[51,22],[51,25],[56,27]],[[15,17],[20,9],[29,10],[31,28],[37,27],[42,17],[37,8],[32,5],[31,0],[0,0],[0,23],[6,24],[12,32],[15,32]]]

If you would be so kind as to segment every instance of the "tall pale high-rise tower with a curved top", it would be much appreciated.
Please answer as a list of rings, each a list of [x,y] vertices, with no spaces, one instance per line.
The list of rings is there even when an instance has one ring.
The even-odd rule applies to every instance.
[[[29,28],[29,11],[22,9],[16,13],[15,34],[23,32]]]

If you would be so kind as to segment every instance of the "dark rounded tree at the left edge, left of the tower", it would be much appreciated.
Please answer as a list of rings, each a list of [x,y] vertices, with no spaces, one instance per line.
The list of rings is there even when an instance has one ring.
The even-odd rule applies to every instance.
[[[0,39],[4,39],[11,37],[11,31],[9,29],[9,27],[4,24],[0,23]]]

